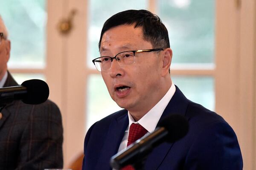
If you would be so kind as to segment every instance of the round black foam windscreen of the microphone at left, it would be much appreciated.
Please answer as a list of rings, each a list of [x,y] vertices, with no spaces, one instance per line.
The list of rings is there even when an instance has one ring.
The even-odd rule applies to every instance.
[[[26,104],[37,105],[45,102],[49,97],[49,87],[43,80],[31,79],[21,85],[27,89],[26,96],[21,99]]]

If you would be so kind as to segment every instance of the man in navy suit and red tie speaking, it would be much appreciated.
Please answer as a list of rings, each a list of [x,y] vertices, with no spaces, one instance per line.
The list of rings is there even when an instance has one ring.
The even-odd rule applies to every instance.
[[[111,156],[126,148],[131,125],[151,133],[171,114],[185,116],[189,132],[177,142],[154,148],[145,170],[242,169],[239,143],[230,125],[186,99],[173,84],[172,50],[159,17],[146,10],[113,15],[102,28],[99,52],[101,57],[93,63],[111,98],[124,110],[90,127],[84,141],[84,170],[111,170]]]

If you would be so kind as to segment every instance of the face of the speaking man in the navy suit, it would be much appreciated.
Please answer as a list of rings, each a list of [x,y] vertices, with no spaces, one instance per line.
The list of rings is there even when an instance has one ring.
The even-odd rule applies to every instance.
[[[143,39],[141,28],[121,25],[103,34],[100,54],[113,57],[122,51],[152,48],[151,43]],[[101,72],[108,92],[117,105],[131,113],[140,110],[147,112],[161,99],[161,93],[158,93],[163,65],[160,54],[162,51],[135,53],[135,63],[123,67],[114,59],[111,70]]]

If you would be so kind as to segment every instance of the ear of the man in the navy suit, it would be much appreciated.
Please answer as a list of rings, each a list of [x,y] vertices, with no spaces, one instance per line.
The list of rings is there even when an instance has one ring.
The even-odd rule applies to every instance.
[[[162,76],[165,76],[166,74],[169,75],[169,68],[171,66],[171,62],[172,62],[172,49],[166,48],[163,51]]]

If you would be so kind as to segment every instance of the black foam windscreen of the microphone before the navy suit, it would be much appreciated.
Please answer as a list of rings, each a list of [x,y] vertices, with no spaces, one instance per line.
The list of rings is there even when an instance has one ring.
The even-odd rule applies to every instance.
[[[166,141],[172,143],[188,133],[189,122],[184,116],[173,114],[159,122],[158,127],[164,127],[168,131]]]

